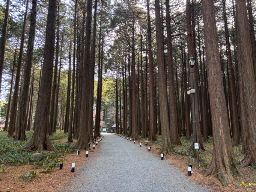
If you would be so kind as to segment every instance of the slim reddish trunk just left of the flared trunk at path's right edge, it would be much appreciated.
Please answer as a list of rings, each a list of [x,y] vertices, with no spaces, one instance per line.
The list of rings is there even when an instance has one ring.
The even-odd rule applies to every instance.
[[[154,98],[154,64],[152,55],[152,38],[151,38],[151,21],[149,15],[149,0],[147,0],[147,18],[148,18],[148,57],[149,57],[149,129],[150,135],[148,140],[156,139],[155,125],[155,98]]]

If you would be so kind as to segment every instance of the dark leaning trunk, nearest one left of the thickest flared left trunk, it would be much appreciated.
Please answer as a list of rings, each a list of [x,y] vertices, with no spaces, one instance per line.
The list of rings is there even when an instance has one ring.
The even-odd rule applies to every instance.
[[[26,104],[28,100],[30,74],[33,60],[33,49],[35,41],[35,30],[36,30],[36,7],[37,0],[32,3],[32,10],[30,16],[30,28],[28,37],[27,57],[26,64],[23,72],[23,80],[21,83],[20,102],[17,112],[17,125],[15,126],[15,139],[26,140]],[[20,53],[22,54],[22,53]],[[19,64],[19,63],[18,63]],[[16,129],[17,128],[17,129]]]

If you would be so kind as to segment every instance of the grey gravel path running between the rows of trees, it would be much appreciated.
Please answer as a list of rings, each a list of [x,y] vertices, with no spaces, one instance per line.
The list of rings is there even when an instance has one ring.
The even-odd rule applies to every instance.
[[[162,161],[139,144],[113,134],[103,134],[97,156],[76,170],[65,192],[208,191],[188,180],[168,161]]]

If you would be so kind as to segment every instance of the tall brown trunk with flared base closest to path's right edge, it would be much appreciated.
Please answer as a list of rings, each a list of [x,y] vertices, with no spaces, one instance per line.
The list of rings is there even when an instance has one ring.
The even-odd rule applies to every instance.
[[[162,43],[162,26],[160,18],[160,5],[159,0],[155,0],[155,13],[156,13],[156,44],[157,44],[157,64],[158,74],[164,74],[164,49]],[[164,75],[159,75],[159,104],[160,104],[160,116],[161,116],[161,131],[162,131],[162,147],[160,153],[172,154],[174,152],[172,148],[172,141],[170,137],[168,109],[167,109],[167,97],[166,97],[166,79]]]

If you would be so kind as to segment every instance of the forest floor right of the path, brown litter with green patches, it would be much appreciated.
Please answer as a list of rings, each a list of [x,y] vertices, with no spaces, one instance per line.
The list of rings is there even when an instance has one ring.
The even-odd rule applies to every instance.
[[[140,138],[140,142],[146,140]],[[205,159],[205,162],[193,163],[190,162],[190,157],[193,155],[193,150],[188,150],[192,143],[192,138],[190,140],[186,140],[186,137],[180,137],[180,141],[182,145],[173,146],[176,154],[172,156],[167,155],[165,160],[169,161],[171,165],[180,169],[180,171],[186,175],[190,180],[193,180],[195,183],[200,184],[202,186],[207,187],[211,191],[218,192],[238,192],[238,191],[256,191],[256,165],[251,165],[249,167],[240,169],[243,173],[243,176],[235,177],[230,180],[227,188],[223,187],[220,181],[214,176],[203,177],[204,172],[209,167],[212,160],[212,152],[213,152],[213,140],[212,137],[209,138],[207,142],[203,142],[205,151],[199,150],[199,156]],[[138,141],[136,141],[138,143]],[[143,142],[141,142],[143,143]],[[162,137],[157,135],[157,141],[153,141],[149,144],[151,147],[150,153],[158,156],[161,159],[161,155],[159,155],[159,150],[162,144]],[[143,145],[145,150],[148,151],[148,147]],[[236,163],[238,166],[241,164],[241,161],[244,158],[244,154],[241,153],[242,145],[235,146],[234,153],[236,157]],[[188,176],[188,164],[192,164],[193,172],[192,176]],[[251,183],[251,185],[250,185]]]

